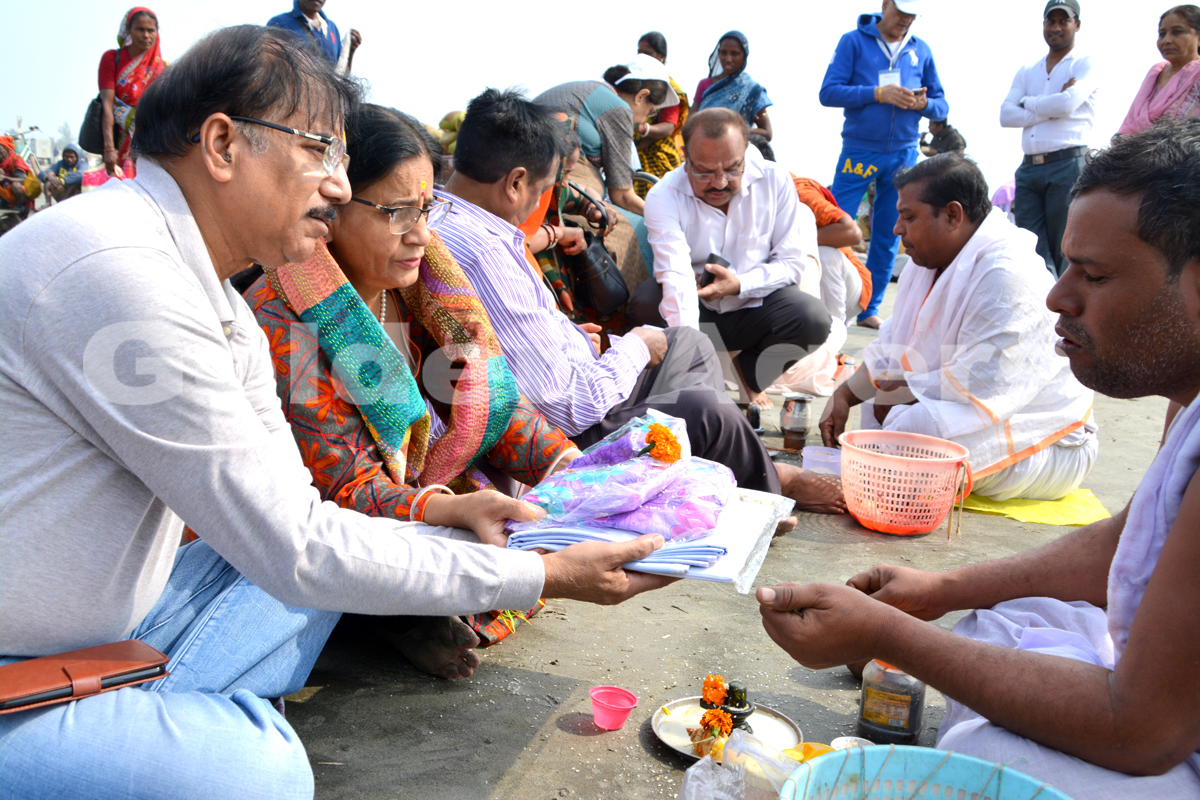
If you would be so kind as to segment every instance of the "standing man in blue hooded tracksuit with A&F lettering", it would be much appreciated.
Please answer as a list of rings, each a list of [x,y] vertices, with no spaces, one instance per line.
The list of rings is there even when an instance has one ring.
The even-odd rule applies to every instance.
[[[896,190],[892,176],[917,163],[920,118],[949,114],[929,44],[910,31],[920,0],[883,0],[878,14],[862,14],[858,29],[838,42],[821,83],[821,104],[846,109],[841,155],[830,191],[838,205],[854,213],[871,181],[875,205],[871,248],[871,302],[858,315],[865,327],[880,326],[880,303],[892,278],[899,239]]]

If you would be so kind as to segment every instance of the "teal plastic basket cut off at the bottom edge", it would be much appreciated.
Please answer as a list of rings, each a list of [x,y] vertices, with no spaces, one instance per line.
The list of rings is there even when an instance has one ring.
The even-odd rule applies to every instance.
[[[1001,764],[929,747],[850,747],[800,764],[779,800],[1070,800]]]

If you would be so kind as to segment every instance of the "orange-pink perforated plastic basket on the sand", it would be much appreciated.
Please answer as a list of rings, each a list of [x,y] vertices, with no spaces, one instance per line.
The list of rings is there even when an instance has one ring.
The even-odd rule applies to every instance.
[[[884,534],[928,534],[954,507],[970,451],[936,437],[893,431],[850,431],[840,437],[846,506],[862,525]]]

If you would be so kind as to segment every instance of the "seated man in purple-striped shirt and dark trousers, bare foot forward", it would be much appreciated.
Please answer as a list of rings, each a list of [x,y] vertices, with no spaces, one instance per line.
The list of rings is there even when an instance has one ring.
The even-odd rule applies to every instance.
[[[635,327],[601,353],[558,309],[526,259],[517,225],[553,186],[565,149],[552,110],[488,89],[467,107],[455,174],[439,192],[454,205],[438,236],[487,309],[521,393],[581,447],[650,408],[678,416],[692,455],[728,467],[738,486],[792,498],[797,509],[845,513],[840,481],[772,462],[725,393],[716,354],[700,331]]]

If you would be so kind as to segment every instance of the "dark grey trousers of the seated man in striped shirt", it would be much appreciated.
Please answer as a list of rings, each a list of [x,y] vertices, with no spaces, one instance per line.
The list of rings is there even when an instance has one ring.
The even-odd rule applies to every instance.
[[[666,336],[662,362],[642,371],[624,403],[571,440],[588,447],[653,408],[688,423],[694,456],[725,464],[743,488],[779,494],[779,471],[745,415],[725,393],[712,342],[691,327],[671,327]]]

